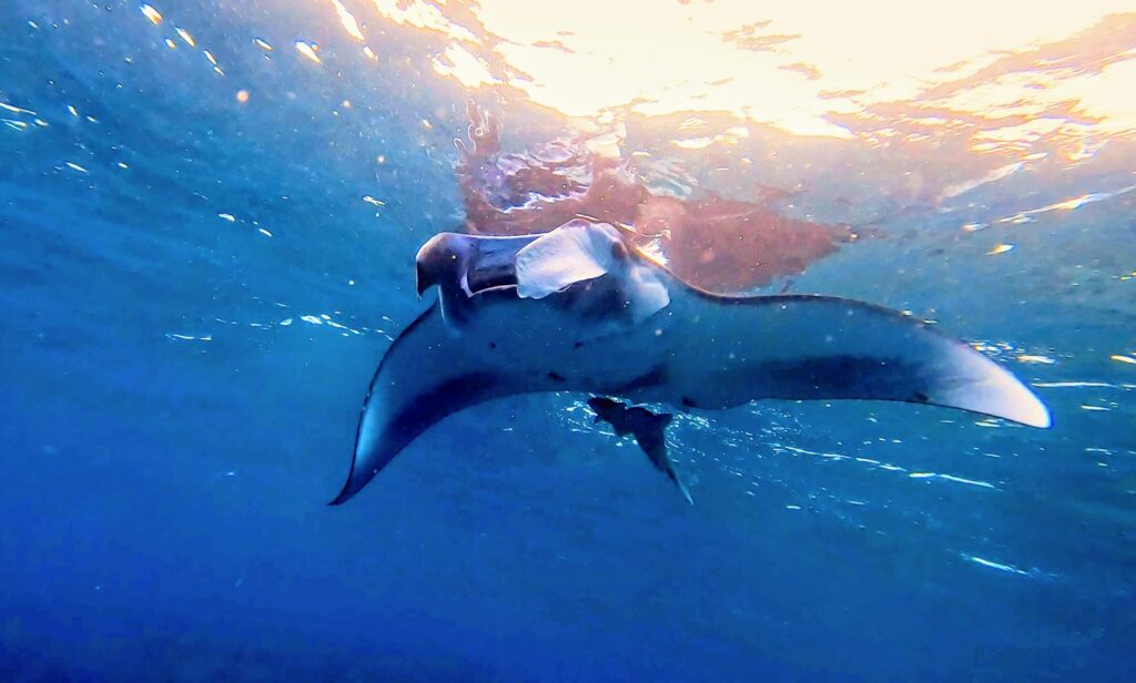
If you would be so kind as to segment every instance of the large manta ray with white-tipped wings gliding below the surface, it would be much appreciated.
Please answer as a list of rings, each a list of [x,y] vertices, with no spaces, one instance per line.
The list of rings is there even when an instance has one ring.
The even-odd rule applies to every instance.
[[[512,394],[587,391],[686,410],[903,400],[1050,425],[1045,405],[1010,372],[922,322],[829,296],[707,294],[628,251],[607,224],[521,237],[442,234],[417,263],[419,294],[436,285],[438,302],[379,363],[333,504],[446,415]],[[648,441],[667,422],[637,420],[657,425],[650,435],[619,424],[634,414],[600,416]],[[644,449],[673,475],[655,462],[665,448]]]

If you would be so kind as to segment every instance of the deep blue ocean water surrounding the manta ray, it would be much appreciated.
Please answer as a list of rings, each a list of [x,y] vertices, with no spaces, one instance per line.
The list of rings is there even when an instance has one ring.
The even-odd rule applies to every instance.
[[[882,235],[794,290],[982,343],[1052,430],[859,403],[684,416],[690,507],[580,396],[509,398],[331,508],[373,370],[425,305],[414,254],[460,225],[469,93],[421,65],[441,39],[374,18],[371,65],[326,3],[159,9],[0,8],[6,680],[1129,675],[1130,137],[976,168],[934,204],[889,189],[962,161],[914,142],[746,143],[808,178],[817,217]],[[511,104],[513,145],[562,125]],[[628,115],[626,145],[682,119]],[[670,150],[721,192],[754,179]]]

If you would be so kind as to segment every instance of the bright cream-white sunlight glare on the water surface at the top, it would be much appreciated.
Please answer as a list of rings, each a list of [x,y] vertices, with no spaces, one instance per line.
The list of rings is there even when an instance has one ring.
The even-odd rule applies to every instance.
[[[332,0],[349,35],[354,16]],[[883,144],[970,137],[977,152],[1136,129],[1136,14],[1120,0],[1066,6],[962,0],[754,5],[548,5],[373,0],[399,25],[450,39],[434,68],[504,85],[569,117],[724,111],[801,135]],[[628,27],[640,29],[628,31]],[[370,54],[368,54],[370,57]],[[902,107],[896,107],[902,104]],[[916,115],[916,116],[912,116]],[[687,149],[709,146],[701,136]]]

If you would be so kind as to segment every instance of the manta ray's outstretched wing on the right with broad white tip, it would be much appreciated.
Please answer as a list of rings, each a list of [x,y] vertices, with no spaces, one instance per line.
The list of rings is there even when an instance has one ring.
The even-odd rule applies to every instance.
[[[900,400],[960,408],[1047,428],[1033,390],[975,347],[896,311],[829,296],[701,295],[732,313],[733,331],[700,342],[726,370],[708,368],[692,391],[703,406],[760,398]],[[703,351],[703,353],[707,353]],[[713,377],[705,381],[704,377]],[[693,382],[692,382],[693,383]]]

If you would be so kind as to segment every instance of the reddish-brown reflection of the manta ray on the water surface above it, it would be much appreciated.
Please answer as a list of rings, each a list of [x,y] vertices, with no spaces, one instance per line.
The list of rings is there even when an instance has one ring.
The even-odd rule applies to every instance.
[[[777,208],[799,191],[758,186],[755,202],[727,199],[643,159],[600,154],[579,137],[506,153],[496,118],[474,102],[468,113],[468,140],[456,141],[456,170],[473,235],[545,233],[574,218],[627,226],[629,243],[657,250],[671,273],[718,293],[768,286],[800,275],[842,244],[878,236]]]

